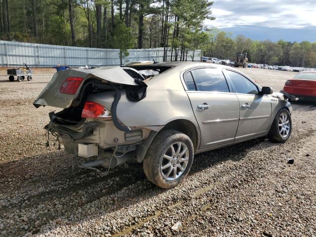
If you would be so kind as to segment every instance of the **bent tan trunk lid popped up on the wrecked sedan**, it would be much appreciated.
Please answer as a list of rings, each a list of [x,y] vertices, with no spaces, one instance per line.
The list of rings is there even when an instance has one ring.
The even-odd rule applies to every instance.
[[[68,78],[83,79],[75,94],[65,94],[60,91],[64,81]],[[136,83],[135,79],[118,66],[90,70],[63,70],[54,74],[51,81],[46,85],[33,104],[36,108],[40,106],[52,106],[63,109],[69,108],[73,101],[79,96],[85,81],[88,79],[100,79],[102,83],[111,85],[139,86],[139,83]]]

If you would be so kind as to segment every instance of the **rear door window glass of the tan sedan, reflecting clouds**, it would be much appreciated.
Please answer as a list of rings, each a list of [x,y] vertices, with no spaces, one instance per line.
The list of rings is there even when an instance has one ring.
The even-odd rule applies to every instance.
[[[227,81],[221,70],[200,68],[192,70],[198,91],[229,92]]]

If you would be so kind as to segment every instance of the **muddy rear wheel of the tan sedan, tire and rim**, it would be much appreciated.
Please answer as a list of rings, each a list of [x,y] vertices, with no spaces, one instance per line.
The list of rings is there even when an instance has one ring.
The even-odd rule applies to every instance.
[[[143,168],[149,181],[163,189],[180,184],[188,175],[194,158],[191,139],[178,131],[160,132],[149,147]]]

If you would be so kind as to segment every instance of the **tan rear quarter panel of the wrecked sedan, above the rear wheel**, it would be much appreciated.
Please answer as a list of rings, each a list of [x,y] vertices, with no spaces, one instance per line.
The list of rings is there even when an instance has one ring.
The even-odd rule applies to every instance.
[[[118,119],[126,126],[163,126],[176,119],[186,119],[195,124],[190,100],[185,92],[180,74],[183,67],[169,69],[163,74],[145,80],[147,95],[139,102],[129,101],[126,92],[121,91],[118,102]],[[114,92],[89,95],[87,100],[97,102],[111,110]],[[158,129],[156,129],[158,130]]]

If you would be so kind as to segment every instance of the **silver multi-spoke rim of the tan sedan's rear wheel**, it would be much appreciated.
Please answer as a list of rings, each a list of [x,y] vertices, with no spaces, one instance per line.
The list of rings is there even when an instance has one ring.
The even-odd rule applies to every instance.
[[[177,180],[186,170],[188,162],[188,146],[183,142],[175,142],[163,154],[160,172],[168,181]]]

